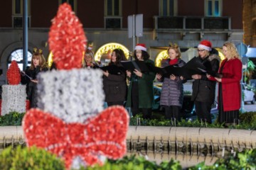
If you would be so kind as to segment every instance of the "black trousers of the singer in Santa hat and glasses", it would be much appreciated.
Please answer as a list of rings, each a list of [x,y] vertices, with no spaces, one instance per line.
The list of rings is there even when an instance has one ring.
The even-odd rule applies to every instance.
[[[211,109],[212,103],[195,101],[195,106],[196,106],[196,115],[198,116],[198,120],[199,121],[206,120],[207,123],[211,123],[210,109]]]

